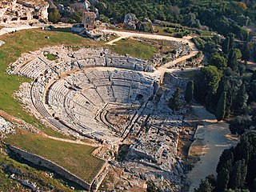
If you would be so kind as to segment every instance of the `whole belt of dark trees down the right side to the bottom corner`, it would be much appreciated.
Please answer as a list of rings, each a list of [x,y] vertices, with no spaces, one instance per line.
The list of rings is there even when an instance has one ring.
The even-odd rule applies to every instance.
[[[242,135],[238,146],[222,153],[217,177],[208,176],[195,191],[255,191],[256,71],[247,69],[255,60],[253,42],[236,42],[234,34],[194,42],[209,55],[207,66],[194,76],[194,98],[218,121],[229,120],[232,134]]]

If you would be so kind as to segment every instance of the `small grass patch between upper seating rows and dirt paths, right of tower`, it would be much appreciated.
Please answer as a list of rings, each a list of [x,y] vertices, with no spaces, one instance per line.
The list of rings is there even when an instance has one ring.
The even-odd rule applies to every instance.
[[[132,57],[146,60],[150,60],[158,52],[158,49],[150,45],[150,43],[138,42],[131,38],[121,39],[115,42],[115,45],[110,46],[110,50],[113,50],[117,54],[129,54]]]

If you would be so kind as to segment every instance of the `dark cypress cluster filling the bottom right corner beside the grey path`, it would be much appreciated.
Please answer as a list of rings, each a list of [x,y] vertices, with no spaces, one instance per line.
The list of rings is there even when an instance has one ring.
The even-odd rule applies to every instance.
[[[203,180],[196,192],[249,192],[256,190],[256,131],[242,135],[238,146],[224,150],[217,166],[217,177]],[[228,189],[228,190],[227,190]]]

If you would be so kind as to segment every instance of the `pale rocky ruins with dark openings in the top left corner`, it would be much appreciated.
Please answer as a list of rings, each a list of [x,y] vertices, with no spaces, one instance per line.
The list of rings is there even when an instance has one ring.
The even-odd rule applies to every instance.
[[[48,7],[44,0],[3,0],[0,2],[0,23],[48,19]]]

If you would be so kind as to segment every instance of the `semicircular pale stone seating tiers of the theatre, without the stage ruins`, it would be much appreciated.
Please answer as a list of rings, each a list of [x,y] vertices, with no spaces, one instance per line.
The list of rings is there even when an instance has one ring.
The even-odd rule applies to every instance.
[[[125,128],[106,119],[111,116],[107,105],[133,108],[135,115],[158,89],[158,79],[141,72],[154,71],[152,66],[106,49],[44,48],[24,54],[12,66],[11,74],[34,79],[30,99],[43,118],[68,134],[89,138],[122,137]]]

